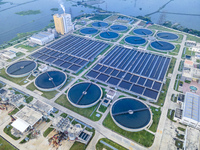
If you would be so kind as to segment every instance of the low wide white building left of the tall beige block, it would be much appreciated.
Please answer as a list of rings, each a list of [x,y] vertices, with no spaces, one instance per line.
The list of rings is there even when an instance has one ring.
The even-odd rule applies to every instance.
[[[53,33],[40,32],[30,37],[30,42],[36,43],[38,45],[45,45],[55,39]]]

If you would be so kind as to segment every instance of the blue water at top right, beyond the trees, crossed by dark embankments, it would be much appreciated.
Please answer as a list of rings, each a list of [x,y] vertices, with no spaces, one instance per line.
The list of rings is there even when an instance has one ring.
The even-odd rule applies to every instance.
[[[99,6],[109,11],[115,11],[130,16],[145,16],[160,9],[169,0],[105,0],[105,3]],[[98,5],[96,5],[98,6]],[[161,17],[163,21],[171,21],[180,25],[196,30],[200,30],[200,0],[173,0],[169,2],[160,12],[150,15],[151,20],[158,23]],[[177,15],[169,13],[181,14],[197,14]]]

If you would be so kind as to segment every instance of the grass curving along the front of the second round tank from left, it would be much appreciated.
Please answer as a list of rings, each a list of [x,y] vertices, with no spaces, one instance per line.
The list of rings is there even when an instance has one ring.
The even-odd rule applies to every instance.
[[[38,89],[35,87],[35,85],[34,85],[33,82],[32,82],[31,84],[29,84],[26,88],[29,89],[29,90],[31,90],[31,91],[38,90]],[[38,90],[38,91],[40,91],[40,90]],[[46,97],[47,99],[52,99],[52,98],[54,98],[55,95],[58,93],[58,92],[55,91],[55,90],[54,90],[54,91],[40,91],[40,92],[42,92],[42,93],[43,93],[42,96],[43,96],[43,97]]]

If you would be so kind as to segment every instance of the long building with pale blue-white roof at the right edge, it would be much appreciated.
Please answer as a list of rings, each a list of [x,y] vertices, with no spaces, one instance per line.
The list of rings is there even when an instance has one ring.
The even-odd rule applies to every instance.
[[[183,105],[181,123],[200,129],[200,96],[187,92]]]

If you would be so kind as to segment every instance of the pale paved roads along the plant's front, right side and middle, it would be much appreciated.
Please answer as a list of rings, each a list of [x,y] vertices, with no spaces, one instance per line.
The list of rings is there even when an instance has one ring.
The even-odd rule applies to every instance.
[[[139,22],[138,22],[138,23],[139,23]],[[134,27],[132,27],[131,30],[130,30],[129,32],[131,32],[133,28],[134,28]],[[129,33],[129,32],[128,32],[128,33]],[[128,35],[128,33],[124,34],[123,37],[125,37],[126,35]],[[120,40],[121,40],[123,37],[121,37]],[[115,44],[119,44],[119,41],[120,41],[120,40],[118,40],[117,42],[115,42]],[[184,42],[185,42],[185,40],[186,40],[186,36],[184,35],[184,37],[183,37],[183,42],[181,43],[181,48],[180,48],[180,51],[179,51],[179,55],[176,56],[177,61],[176,61],[175,67],[174,67],[174,73],[173,73],[173,75],[172,75],[172,78],[171,78],[171,82],[170,82],[169,87],[173,87],[173,86],[174,86],[174,83],[175,83],[175,80],[176,80],[176,75],[177,75],[177,73],[179,73],[179,72],[178,72],[178,67],[179,67],[179,63],[180,63],[180,61],[181,61],[181,55],[182,55],[182,51],[183,51],[183,48],[184,48]],[[110,49],[111,49],[111,48],[110,48]],[[105,55],[105,54],[104,54],[104,55]],[[99,57],[98,60],[101,59],[102,57],[104,57],[104,55],[102,55],[101,57]],[[98,60],[97,60],[97,61],[98,61]],[[91,65],[90,67],[92,67],[92,65]],[[67,113],[67,114],[70,114],[71,116],[73,116],[73,117],[75,117],[75,118],[77,118],[77,119],[79,119],[79,120],[82,120],[83,122],[85,122],[85,123],[89,124],[90,126],[92,126],[93,128],[95,128],[98,134],[97,134],[97,135],[95,136],[95,138],[93,138],[93,140],[91,141],[92,145],[93,145],[95,142],[97,142],[97,139],[99,139],[99,137],[102,137],[102,136],[103,136],[103,137],[112,139],[114,142],[119,143],[119,144],[121,144],[122,146],[124,146],[124,147],[126,147],[126,148],[128,148],[128,149],[136,149],[136,150],[137,150],[137,149],[138,149],[138,150],[146,149],[146,148],[144,148],[143,146],[139,145],[138,143],[133,142],[133,141],[131,141],[131,140],[129,140],[129,139],[127,139],[127,138],[125,138],[125,137],[123,137],[123,136],[121,136],[121,135],[119,135],[119,134],[117,134],[117,133],[115,133],[115,132],[113,132],[113,131],[111,131],[111,130],[105,128],[104,126],[102,126],[103,119],[106,117],[106,115],[103,115],[103,117],[102,117],[102,119],[100,119],[100,121],[98,121],[98,122],[93,122],[93,121],[91,121],[91,120],[88,119],[88,118],[85,118],[85,117],[83,117],[83,116],[81,116],[81,115],[79,115],[79,114],[77,114],[77,113],[75,113],[75,112],[73,112],[73,111],[71,111],[71,110],[69,110],[69,109],[63,107],[63,106],[60,106],[60,105],[54,103],[54,101],[55,101],[61,94],[63,94],[64,91],[66,91],[66,89],[68,89],[72,84],[74,84],[74,82],[75,82],[77,79],[80,79],[81,76],[82,76],[83,74],[85,74],[85,73],[90,69],[90,67],[87,68],[87,69],[85,69],[85,70],[79,75],[79,77],[76,77],[76,76],[75,76],[75,79],[74,79],[72,82],[70,82],[70,83],[69,83],[60,93],[58,93],[52,100],[48,100],[48,99],[46,99],[46,98],[44,98],[44,97],[42,97],[42,96],[40,96],[40,95],[38,95],[38,94],[36,94],[36,93],[34,93],[34,92],[32,92],[32,91],[29,91],[29,90],[26,89],[25,87],[22,87],[22,86],[20,86],[20,85],[18,85],[18,84],[15,84],[15,83],[11,82],[11,81],[8,81],[8,80],[6,80],[6,79],[4,79],[4,78],[2,78],[2,77],[0,77],[0,80],[3,81],[3,82],[5,82],[5,83],[7,83],[7,84],[10,85],[11,87],[14,87],[14,88],[17,88],[17,89],[19,89],[19,90],[22,90],[23,92],[25,92],[25,93],[27,93],[27,94],[29,94],[29,95],[31,95],[31,96],[33,96],[33,97],[39,99],[39,100],[42,100],[42,101],[44,101],[45,103],[48,103],[48,104],[52,105],[53,107],[56,107],[57,109],[61,110],[62,112],[65,112],[65,113]],[[170,105],[170,102],[169,102],[169,101],[170,101],[170,98],[171,98],[171,94],[172,94],[173,92],[174,92],[173,89],[169,89],[169,90],[168,90],[168,93],[167,93],[167,95],[166,95],[166,100],[165,100],[165,103],[164,103],[164,106],[163,106],[163,109],[162,109],[162,114],[161,114],[161,117],[160,117],[160,122],[159,122],[159,125],[158,125],[158,129],[157,129],[157,132],[156,132],[156,134],[155,134],[155,140],[154,140],[154,143],[153,143],[152,147],[150,147],[149,149],[152,149],[152,150],[158,150],[158,149],[160,149],[160,143],[161,143],[162,136],[163,136],[163,130],[164,130],[165,121],[166,121],[166,116],[167,116],[167,110],[168,110],[169,105]],[[124,94],[123,94],[123,95],[124,95]],[[158,107],[158,106],[157,106],[157,107]],[[109,113],[109,110],[107,110],[107,112],[106,112],[105,114],[107,114],[107,113]],[[14,143],[14,145],[15,145],[15,143]],[[94,147],[93,147],[92,145],[90,144],[90,145],[88,146],[88,149],[93,149]]]

